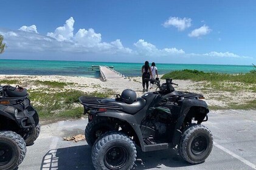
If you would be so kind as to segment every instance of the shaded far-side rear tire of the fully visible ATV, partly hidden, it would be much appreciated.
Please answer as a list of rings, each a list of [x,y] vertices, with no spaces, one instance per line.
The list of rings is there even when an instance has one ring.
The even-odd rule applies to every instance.
[[[89,146],[93,146],[97,138],[105,134],[108,131],[118,130],[115,128],[115,124],[108,120],[92,120],[89,121],[85,128],[85,139]]]

